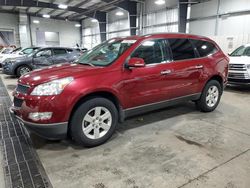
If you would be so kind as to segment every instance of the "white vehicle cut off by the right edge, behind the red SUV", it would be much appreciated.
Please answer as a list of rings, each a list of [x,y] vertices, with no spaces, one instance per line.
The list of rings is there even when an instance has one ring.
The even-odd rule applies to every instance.
[[[250,85],[250,44],[240,46],[229,56],[228,83]]]

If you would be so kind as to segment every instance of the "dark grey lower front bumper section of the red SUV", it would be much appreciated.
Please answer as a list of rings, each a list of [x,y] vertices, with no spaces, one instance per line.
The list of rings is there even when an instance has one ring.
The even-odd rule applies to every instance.
[[[38,136],[46,138],[48,140],[58,140],[67,137],[68,122],[53,123],[53,124],[39,124],[23,120],[17,116],[13,107],[10,108],[10,112],[14,114],[17,120],[24,125],[29,131],[34,132]]]

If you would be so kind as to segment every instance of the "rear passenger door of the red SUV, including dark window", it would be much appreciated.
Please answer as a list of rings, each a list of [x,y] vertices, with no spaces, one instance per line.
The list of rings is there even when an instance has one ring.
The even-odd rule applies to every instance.
[[[193,44],[185,38],[169,38],[166,42],[172,54],[172,61],[165,67],[168,97],[179,98],[198,93],[203,64]]]

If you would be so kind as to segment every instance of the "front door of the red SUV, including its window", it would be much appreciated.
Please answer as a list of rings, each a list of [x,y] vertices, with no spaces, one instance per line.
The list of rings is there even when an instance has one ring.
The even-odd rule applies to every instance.
[[[125,70],[123,93],[128,108],[164,101],[168,98],[168,86],[164,71],[170,57],[166,51],[165,39],[145,41],[132,53],[130,58],[142,58],[146,66]]]

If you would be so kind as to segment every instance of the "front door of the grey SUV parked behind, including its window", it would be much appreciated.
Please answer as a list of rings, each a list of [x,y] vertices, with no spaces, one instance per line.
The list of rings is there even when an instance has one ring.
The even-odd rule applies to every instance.
[[[35,68],[43,68],[53,65],[52,51],[49,48],[39,50],[33,57]]]

